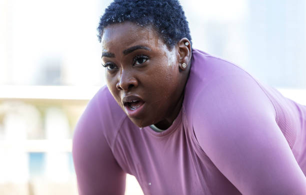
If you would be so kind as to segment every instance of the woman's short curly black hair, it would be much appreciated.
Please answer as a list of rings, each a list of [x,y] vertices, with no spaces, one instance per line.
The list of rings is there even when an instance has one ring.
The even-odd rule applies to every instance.
[[[99,42],[106,26],[125,21],[151,25],[169,49],[184,37],[191,43],[188,22],[178,0],[114,0],[100,17]]]

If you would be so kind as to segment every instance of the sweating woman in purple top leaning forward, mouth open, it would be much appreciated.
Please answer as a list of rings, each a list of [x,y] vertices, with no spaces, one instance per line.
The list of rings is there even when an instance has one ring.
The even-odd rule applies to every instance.
[[[306,194],[306,107],[192,49],[176,0],[115,0],[98,27],[107,87],[79,119],[79,194]]]

